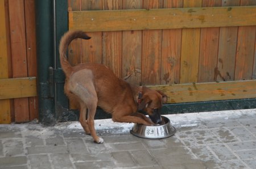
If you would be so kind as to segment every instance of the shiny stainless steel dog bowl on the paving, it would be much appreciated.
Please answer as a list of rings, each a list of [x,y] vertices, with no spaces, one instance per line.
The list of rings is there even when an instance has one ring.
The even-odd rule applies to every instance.
[[[134,124],[130,133],[141,138],[166,138],[173,136],[176,129],[171,125],[170,120],[165,116],[162,116],[162,120],[164,121],[163,125],[148,126],[143,124]]]

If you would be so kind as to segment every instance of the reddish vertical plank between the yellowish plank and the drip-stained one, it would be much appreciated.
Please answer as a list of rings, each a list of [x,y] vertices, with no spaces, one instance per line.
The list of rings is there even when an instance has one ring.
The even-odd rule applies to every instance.
[[[204,0],[203,7],[221,6],[221,0]],[[220,28],[201,28],[199,73],[197,82],[214,82],[218,60]]]

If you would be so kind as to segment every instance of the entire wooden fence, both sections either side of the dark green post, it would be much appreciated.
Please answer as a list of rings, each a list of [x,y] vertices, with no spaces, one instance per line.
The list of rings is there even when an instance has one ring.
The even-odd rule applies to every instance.
[[[256,1],[66,0],[72,65],[97,62],[168,103],[256,98]],[[0,0],[0,123],[38,118],[34,0]],[[74,107],[71,107],[74,108]]]

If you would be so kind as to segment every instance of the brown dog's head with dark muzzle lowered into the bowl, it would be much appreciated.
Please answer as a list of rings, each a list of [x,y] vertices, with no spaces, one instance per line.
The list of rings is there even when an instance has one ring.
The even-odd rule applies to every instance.
[[[160,110],[163,103],[166,102],[167,95],[165,95],[162,91],[142,87],[142,96],[138,105],[138,111],[146,113],[155,124],[161,124],[162,118]]]

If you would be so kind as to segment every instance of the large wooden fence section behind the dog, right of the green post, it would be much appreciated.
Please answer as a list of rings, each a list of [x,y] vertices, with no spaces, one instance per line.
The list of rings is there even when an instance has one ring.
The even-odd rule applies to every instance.
[[[169,103],[256,98],[256,1],[69,1],[69,29],[92,37],[69,61],[98,62]],[[246,80],[246,81],[245,81]]]

